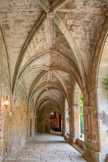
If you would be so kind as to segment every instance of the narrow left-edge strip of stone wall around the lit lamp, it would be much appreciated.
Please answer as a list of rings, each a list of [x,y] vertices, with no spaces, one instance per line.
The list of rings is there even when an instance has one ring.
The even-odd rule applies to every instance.
[[[3,31],[0,28],[0,158],[6,151],[7,114],[10,113],[10,106],[4,106],[6,97],[10,102],[10,78],[7,57]]]

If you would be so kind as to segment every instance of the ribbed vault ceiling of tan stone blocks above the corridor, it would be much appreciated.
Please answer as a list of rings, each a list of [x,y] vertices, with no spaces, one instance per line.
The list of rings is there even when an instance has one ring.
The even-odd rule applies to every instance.
[[[0,1],[0,11],[8,12],[2,28],[12,93],[24,83],[29,103],[61,111],[64,98],[70,102],[74,81],[86,87],[107,0],[6,2]]]

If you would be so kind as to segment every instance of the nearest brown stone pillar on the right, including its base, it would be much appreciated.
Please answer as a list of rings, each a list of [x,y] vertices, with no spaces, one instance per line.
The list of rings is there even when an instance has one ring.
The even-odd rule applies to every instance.
[[[83,156],[89,161],[105,162],[105,153],[100,152],[98,115],[96,109],[90,105],[84,106],[85,142]]]

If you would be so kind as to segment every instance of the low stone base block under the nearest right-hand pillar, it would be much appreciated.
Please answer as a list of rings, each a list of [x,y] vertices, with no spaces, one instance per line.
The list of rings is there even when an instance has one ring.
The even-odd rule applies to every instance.
[[[90,162],[106,162],[106,153],[96,152],[85,144],[83,145],[83,157]]]

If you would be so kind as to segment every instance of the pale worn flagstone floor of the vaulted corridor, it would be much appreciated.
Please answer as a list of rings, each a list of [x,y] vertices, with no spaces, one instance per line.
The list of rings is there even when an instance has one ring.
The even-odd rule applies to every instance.
[[[5,160],[7,161],[7,160]],[[86,162],[60,135],[38,134],[8,162]]]

